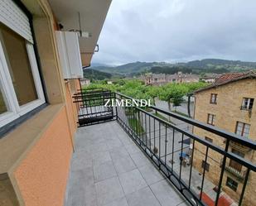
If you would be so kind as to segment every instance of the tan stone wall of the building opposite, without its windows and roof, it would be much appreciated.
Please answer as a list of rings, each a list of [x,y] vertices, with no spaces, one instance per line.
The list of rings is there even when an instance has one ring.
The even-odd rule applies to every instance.
[[[255,98],[256,97],[256,79],[243,79],[236,81],[234,83],[221,85],[219,87],[201,91],[196,93],[196,108],[195,108],[195,119],[200,122],[207,122],[208,113],[215,114],[215,127],[220,127],[229,132],[235,132],[236,122],[245,122],[250,124],[249,138],[256,141],[256,107],[252,109],[251,116],[249,116],[249,111],[240,110],[243,98]],[[217,93],[217,103],[210,103],[210,94]],[[215,136],[210,132],[205,132],[202,129],[194,128],[194,133],[202,138],[210,137],[213,140],[213,144],[225,147],[225,139],[222,137]],[[245,137],[244,137],[245,138]],[[245,159],[256,161],[256,156],[254,151],[249,151],[248,148],[244,146],[239,146],[237,144],[230,144],[229,150],[232,148],[242,151]],[[195,144],[194,151],[194,161],[193,165],[200,172],[203,171],[201,168],[202,160],[205,160],[205,146],[199,143]],[[209,158],[207,162],[210,164],[210,171],[206,172],[206,177],[213,181],[215,185],[218,185],[220,179],[220,165],[222,164],[222,156],[218,153],[210,150]],[[229,165],[229,159],[226,162]],[[242,168],[241,174],[245,172],[245,168]],[[227,177],[239,183],[238,189],[234,192],[229,189],[226,184]],[[256,174],[251,172],[249,175],[249,180],[244,196],[244,205],[256,205],[256,199],[251,199],[252,195],[256,191]],[[238,201],[241,194],[243,186],[243,180],[240,180],[234,174],[225,171],[225,176],[222,182],[222,189],[229,194],[229,196]]]

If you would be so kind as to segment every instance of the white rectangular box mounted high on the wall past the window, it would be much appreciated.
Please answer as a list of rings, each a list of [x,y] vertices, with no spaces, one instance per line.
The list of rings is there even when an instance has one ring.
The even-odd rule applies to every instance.
[[[71,31],[56,31],[56,40],[63,78],[83,78],[78,34]]]

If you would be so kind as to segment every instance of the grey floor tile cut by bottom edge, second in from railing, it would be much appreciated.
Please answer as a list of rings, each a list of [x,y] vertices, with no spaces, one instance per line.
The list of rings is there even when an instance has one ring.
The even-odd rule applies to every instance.
[[[160,206],[152,191],[147,187],[126,196],[129,206]]]

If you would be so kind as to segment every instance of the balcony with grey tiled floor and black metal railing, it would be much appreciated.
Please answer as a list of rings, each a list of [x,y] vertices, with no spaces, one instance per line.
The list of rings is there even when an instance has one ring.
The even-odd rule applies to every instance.
[[[104,89],[82,90],[74,96],[80,128],[75,137],[65,206],[249,205],[246,185],[256,165],[230,152],[229,143],[255,150],[254,141],[155,107],[151,107],[152,112],[135,106],[104,107],[111,99],[131,98]],[[167,118],[155,116],[156,112],[179,123],[173,124],[174,119],[167,122]],[[225,148],[196,136],[191,127],[225,138]],[[205,149],[200,162],[201,158],[209,162],[209,151],[223,159],[221,166],[217,164],[219,176],[215,181],[210,178],[215,168],[208,172],[205,164],[199,171],[195,150],[198,144]],[[227,159],[246,168],[235,197],[223,190]]]

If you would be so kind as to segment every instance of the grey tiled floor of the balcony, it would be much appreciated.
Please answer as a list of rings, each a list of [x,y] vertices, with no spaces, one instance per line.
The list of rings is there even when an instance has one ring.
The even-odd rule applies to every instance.
[[[118,122],[79,128],[65,206],[185,206]]]

